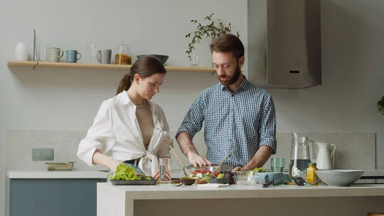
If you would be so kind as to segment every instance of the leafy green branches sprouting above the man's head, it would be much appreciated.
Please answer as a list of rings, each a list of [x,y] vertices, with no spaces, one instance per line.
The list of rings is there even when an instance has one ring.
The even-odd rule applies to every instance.
[[[192,52],[196,48],[196,44],[200,43],[200,41],[205,38],[214,39],[218,36],[221,36],[225,33],[231,33],[232,26],[228,23],[228,26],[220,20],[220,18],[216,18],[216,22],[213,20],[213,14],[210,13],[209,16],[204,18],[208,23],[203,24],[197,20],[191,20],[191,23],[196,24],[196,31],[186,34],[186,38],[191,38],[191,41],[188,43],[188,49],[186,50],[186,55],[189,60],[192,60]],[[239,32],[236,32],[236,36],[239,36]]]

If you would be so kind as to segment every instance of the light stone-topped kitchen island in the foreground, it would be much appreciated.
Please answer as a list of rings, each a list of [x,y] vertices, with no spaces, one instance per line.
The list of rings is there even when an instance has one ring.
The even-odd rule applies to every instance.
[[[112,185],[97,183],[97,216],[366,215],[384,212],[384,185]]]

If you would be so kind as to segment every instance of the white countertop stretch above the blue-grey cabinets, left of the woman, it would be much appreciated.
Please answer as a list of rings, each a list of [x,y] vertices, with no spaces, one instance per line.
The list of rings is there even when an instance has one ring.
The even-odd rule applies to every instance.
[[[6,171],[6,178],[107,178],[105,171]]]

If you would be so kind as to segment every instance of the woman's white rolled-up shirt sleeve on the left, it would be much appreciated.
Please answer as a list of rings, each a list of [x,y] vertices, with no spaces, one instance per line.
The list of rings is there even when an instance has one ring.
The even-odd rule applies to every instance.
[[[80,141],[78,148],[78,158],[87,163],[88,166],[95,166],[92,157],[98,149],[105,151],[105,146],[114,145],[114,134],[112,133],[111,112],[107,102],[103,102],[93,121],[92,126],[87,131],[87,135]]]

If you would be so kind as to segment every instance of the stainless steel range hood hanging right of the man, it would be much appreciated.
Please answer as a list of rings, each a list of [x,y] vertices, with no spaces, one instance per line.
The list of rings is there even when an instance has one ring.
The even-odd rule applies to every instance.
[[[266,88],[321,85],[320,0],[248,0],[248,80]]]

